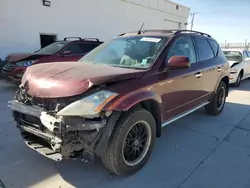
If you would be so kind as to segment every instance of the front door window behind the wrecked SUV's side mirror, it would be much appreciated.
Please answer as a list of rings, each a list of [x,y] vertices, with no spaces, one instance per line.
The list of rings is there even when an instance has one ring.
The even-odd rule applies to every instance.
[[[177,38],[169,49],[167,60],[172,56],[186,56],[190,63],[195,63],[197,60],[192,39],[190,37]]]

